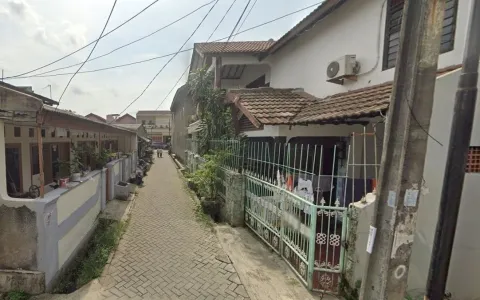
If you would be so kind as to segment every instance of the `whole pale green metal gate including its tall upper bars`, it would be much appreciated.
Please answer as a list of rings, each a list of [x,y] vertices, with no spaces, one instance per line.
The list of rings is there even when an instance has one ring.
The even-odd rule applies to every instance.
[[[344,271],[348,221],[348,174],[337,168],[336,147],[330,149],[333,169],[338,169],[333,175],[320,175],[322,146],[249,143],[244,164],[246,225],[310,290],[332,293],[338,292]],[[348,166],[348,155],[344,163]],[[308,186],[305,193],[299,191],[302,182]],[[331,188],[325,193],[322,186]],[[343,192],[334,193],[333,186]]]

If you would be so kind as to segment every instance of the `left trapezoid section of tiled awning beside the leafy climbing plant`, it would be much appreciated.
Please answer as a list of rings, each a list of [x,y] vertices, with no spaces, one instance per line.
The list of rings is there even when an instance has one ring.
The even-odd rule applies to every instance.
[[[259,124],[288,124],[315,98],[301,89],[238,89],[230,90],[227,99],[252,121]]]

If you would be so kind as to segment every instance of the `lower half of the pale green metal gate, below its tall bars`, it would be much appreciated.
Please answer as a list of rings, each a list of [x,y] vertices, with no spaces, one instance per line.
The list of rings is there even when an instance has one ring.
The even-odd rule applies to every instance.
[[[337,292],[344,269],[347,208],[314,205],[249,175],[245,181],[246,225],[309,289]]]

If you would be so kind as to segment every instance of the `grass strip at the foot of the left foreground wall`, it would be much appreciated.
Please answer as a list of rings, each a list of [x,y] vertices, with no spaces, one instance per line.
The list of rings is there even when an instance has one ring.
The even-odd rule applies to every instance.
[[[102,275],[110,253],[115,250],[128,225],[127,222],[100,219],[88,242],[86,252],[73,263],[72,269],[63,276],[54,292],[72,293]]]

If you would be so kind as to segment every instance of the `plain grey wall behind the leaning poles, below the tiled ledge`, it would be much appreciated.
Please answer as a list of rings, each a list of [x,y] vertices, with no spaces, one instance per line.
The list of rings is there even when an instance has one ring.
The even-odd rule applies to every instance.
[[[435,101],[430,134],[439,140],[428,140],[424,179],[428,194],[421,196],[417,217],[417,232],[410,263],[410,289],[424,288],[428,276],[438,208],[445,175],[452,112],[460,71],[442,76],[435,86]],[[480,88],[480,84],[478,85]],[[477,99],[474,130],[470,145],[480,146],[480,101]],[[471,300],[480,297],[480,202],[478,201],[480,174],[465,176],[462,202],[458,217],[453,254],[448,276],[448,291],[453,299]],[[477,279],[475,279],[477,278]]]

